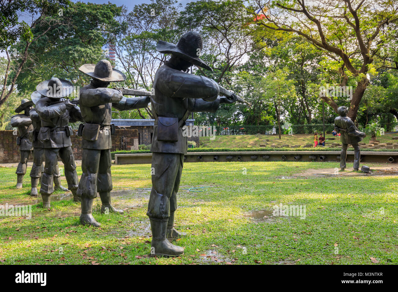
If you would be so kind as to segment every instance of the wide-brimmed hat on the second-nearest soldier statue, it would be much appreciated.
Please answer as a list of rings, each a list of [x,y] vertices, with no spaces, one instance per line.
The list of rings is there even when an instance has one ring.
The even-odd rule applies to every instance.
[[[111,62],[108,60],[101,60],[96,65],[84,64],[80,66],[79,70],[90,77],[105,82],[119,82],[126,80],[126,75],[121,71],[112,68]]]

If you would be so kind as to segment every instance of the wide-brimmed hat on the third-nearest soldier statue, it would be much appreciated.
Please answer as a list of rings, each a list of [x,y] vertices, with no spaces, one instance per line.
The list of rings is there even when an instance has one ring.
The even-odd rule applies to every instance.
[[[68,80],[53,77],[39,83],[36,90],[46,97],[61,99],[73,93],[73,84]]]

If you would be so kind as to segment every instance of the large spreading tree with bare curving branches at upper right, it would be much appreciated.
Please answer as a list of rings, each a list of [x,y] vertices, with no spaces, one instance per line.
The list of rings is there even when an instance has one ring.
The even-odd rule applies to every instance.
[[[293,32],[315,47],[324,50],[334,66],[339,65],[340,86],[345,87],[349,77],[355,78],[356,88],[350,101],[348,116],[355,119],[359,103],[369,83],[368,73],[375,73],[372,63],[380,47],[392,35],[388,25],[398,20],[397,1],[375,0],[320,0],[306,4],[304,0],[273,0],[264,8],[261,0],[252,2],[250,13],[269,9],[269,17],[255,25],[275,31]],[[337,112],[333,97],[322,97]]]

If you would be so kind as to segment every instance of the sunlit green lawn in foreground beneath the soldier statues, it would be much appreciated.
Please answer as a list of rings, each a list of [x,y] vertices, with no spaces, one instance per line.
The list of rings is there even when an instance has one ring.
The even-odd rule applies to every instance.
[[[134,188],[150,188],[149,164],[112,166],[113,202],[125,214],[100,215],[97,198],[100,228],[79,225],[80,205],[71,200],[43,210],[41,198],[35,203],[27,195],[28,175],[16,190],[16,169],[0,168],[0,204],[35,203],[30,220],[0,217],[0,263],[398,264],[397,177],[295,176],[311,168],[333,173],[335,167],[335,162],[186,163],[181,189],[209,187],[178,193],[176,228],[189,234],[176,242],[185,248],[178,258],[147,256],[149,191]],[[251,219],[250,211],[272,211],[279,203],[305,205],[305,219]]]

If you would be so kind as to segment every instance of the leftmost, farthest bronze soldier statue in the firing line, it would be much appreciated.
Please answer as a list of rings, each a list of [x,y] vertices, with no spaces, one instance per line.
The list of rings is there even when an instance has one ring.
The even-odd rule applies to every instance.
[[[29,118],[29,111],[33,107],[33,102],[29,99],[22,99],[21,105],[15,109],[17,113],[11,117],[11,126],[18,128],[17,145],[20,147],[20,163],[17,171],[17,189],[22,188],[23,176],[26,173],[27,160],[31,150],[33,150],[32,143],[29,141],[29,132],[33,131],[32,121]],[[24,111],[23,114],[20,112]]]

